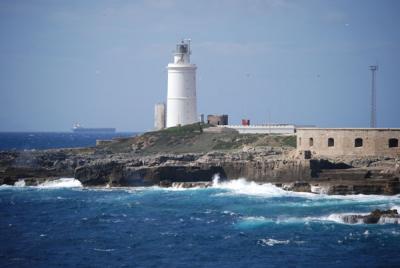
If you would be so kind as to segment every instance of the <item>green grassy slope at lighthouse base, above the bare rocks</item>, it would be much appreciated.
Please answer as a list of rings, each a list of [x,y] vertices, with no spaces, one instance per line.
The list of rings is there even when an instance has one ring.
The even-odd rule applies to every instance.
[[[208,125],[193,124],[147,132],[133,138],[123,138],[100,148],[111,152],[129,152],[132,147],[141,154],[153,153],[200,153],[213,150],[236,150],[243,146],[295,147],[294,136],[263,134],[238,134],[237,132],[208,133]],[[132,146],[133,145],[133,146]]]

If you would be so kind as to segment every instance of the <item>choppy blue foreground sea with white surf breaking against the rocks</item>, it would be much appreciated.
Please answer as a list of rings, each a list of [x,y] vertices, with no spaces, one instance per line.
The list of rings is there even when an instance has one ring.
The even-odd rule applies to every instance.
[[[0,186],[0,267],[399,267],[399,225],[342,220],[375,209],[400,196],[21,180]]]

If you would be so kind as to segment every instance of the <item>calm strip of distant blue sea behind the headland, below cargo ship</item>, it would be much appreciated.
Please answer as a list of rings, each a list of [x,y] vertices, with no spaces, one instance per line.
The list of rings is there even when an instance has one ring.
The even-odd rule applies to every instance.
[[[96,140],[134,136],[134,132],[0,132],[0,150],[32,150],[95,146]]]

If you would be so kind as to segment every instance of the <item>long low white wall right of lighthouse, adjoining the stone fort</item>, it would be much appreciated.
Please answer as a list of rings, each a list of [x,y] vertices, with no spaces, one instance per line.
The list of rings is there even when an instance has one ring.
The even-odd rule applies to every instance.
[[[295,125],[271,124],[271,125],[226,125],[218,127],[227,127],[237,130],[240,134],[279,134],[294,135]]]

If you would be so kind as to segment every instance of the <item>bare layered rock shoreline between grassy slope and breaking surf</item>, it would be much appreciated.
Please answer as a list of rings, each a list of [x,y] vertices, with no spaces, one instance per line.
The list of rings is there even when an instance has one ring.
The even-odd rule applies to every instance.
[[[149,155],[101,148],[0,152],[0,185],[74,177],[84,186],[207,187],[216,174],[272,183],[288,191],[400,193],[399,158],[300,159],[294,150],[280,147]]]

